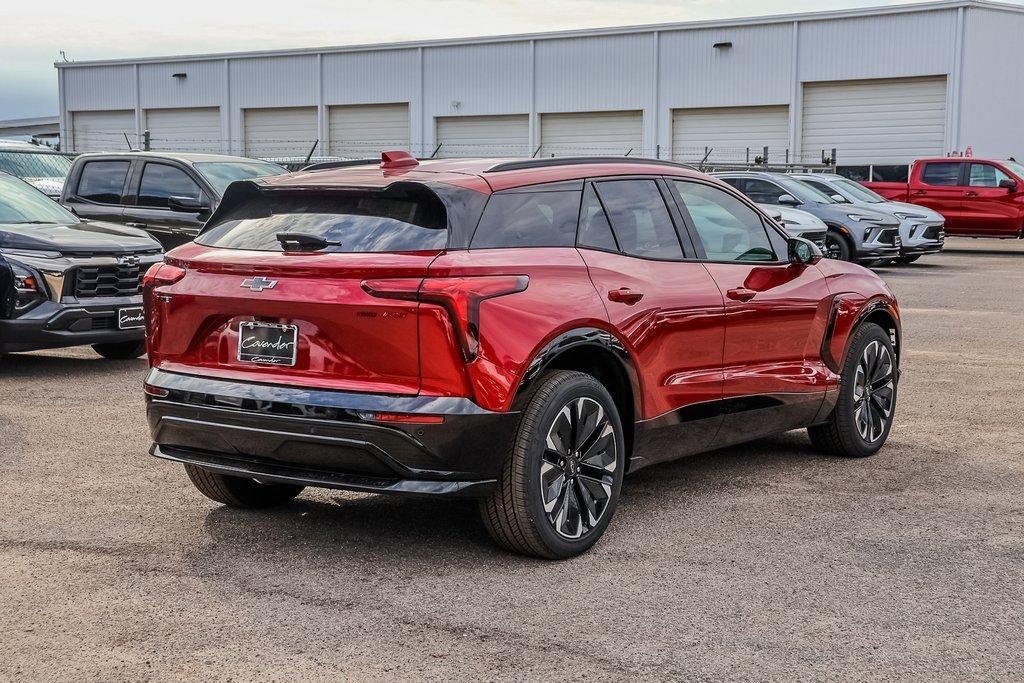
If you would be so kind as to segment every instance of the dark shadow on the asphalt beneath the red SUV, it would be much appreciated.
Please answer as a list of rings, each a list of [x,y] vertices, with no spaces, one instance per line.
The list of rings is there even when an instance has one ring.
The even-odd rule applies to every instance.
[[[791,433],[654,465],[626,478],[615,523],[635,523],[666,500],[686,498],[694,487],[707,493],[737,480],[756,481],[766,469],[782,468],[787,471],[783,476],[800,480],[801,469],[820,460],[806,436]],[[209,543],[189,556],[200,575],[267,561],[272,566],[266,570],[274,573],[284,562],[304,568],[324,565],[341,573],[372,566],[373,574],[400,572],[407,578],[435,573],[438,558],[444,564],[481,567],[508,566],[510,558],[536,561],[498,548],[474,501],[314,492],[273,510],[215,508],[206,515],[204,531]]]

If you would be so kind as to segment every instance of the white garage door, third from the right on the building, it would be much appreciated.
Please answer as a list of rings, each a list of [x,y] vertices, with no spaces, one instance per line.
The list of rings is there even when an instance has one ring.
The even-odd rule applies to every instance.
[[[541,115],[542,157],[645,157],[642,112]]]

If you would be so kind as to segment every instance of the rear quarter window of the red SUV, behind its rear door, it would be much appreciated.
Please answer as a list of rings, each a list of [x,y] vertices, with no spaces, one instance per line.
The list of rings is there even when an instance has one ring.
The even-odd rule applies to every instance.
[[[579,217],[580,190],[497,193],[470,248],[572,247]]]

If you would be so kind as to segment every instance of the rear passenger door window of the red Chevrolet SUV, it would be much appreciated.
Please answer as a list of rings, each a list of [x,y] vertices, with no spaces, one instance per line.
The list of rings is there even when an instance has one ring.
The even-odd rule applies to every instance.
[[[683,258],[679,236],[657,182],[607,180],[597,183],[597,194],[623,252],[643,258]]]

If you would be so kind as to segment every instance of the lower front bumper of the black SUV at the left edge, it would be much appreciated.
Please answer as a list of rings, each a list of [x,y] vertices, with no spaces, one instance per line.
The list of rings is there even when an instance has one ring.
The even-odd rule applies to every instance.
[[[0,352],[139,341],[145,330],[120,330],[118,311],[141,305],[141,296],[89,305],[46,301],[19,317],[0,319]]]

